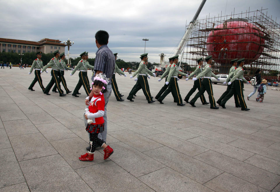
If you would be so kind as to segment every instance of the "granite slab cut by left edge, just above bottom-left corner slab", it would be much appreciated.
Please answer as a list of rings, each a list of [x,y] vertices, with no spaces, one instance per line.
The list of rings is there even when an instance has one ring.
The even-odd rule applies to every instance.
[[[13,149],[0,149],[0,188],[25,181]]]

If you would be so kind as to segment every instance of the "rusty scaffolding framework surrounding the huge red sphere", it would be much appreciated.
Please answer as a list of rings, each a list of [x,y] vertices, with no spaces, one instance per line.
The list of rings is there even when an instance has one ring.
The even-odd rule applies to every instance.
[[[264,13],[266,11],[266,13]],[[222,14],[221,14],[222,15]],[[249,30],[243,30],[243,26],[233,26],[233,22],[246,22],[250,26]],[[186,26],[186,29],[188,26]],[[225,33],[221,33],[224,30]],[[237,31],[237,33],[236,33]],[[231,40],[233,36],[249,39],[239,42]],[[253,38],[258,39],[257,41]],[[224,39],[224,41],[209,42],[209,38]],[[226,41],[225,39],[230,39]],[[241,45],[248,45],[241,46]],[[252,50],[251,46],[259,47]],[[213,48],[214,47],[214,48]],[[218,47],[218,49],[216,48]],[[237,49],[228,49],[222,51],[220,47],[233,47]],[[244,47],[244,49],[242,48]],[[248,48],[249,47],[249,48]],[[208,55],[217,55],[219,58],[213,58],[212,69],[214,73],[228,73],[231,67],[230,55],[235,51],[235,55],[250,55],[245,57],[244,77],[248,80],[254,75],[255,70],[262,70],[262,77],[268,80],[278,79],[279,76],[279,57],[280,57],[280,25],[272,16],[267,15],[267,9],[256,11],[246,11],[245,13],[225,15],[218,17],[206,16],[206,19],[196,21],[190,40],[187,42],[183,62],[188,63],[185,70],[193,70],[197,66],[196,60],[200,57],[205,58]],[[263,51],[262,51],[263,50]],[[232,54],[231,54],[232,52]],[[253,57],[252,57],[253,55]]]

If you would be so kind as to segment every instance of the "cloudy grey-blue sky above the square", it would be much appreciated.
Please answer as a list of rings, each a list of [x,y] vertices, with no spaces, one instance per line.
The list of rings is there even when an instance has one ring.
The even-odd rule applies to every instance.
[[[71,57],[83,51],[94,58],[98,30],[109,33],[108,47],[124,61],[139,61],[149,53],[150,62],[160,62],[185,33],[185,24],[194,17],[201,0],[0,0],[0,38],[39,41],[43,38],[74,41]],[[280,22],[280,0],[207,0],[198,19],[268,8],[268,15]],[[67,50],[67,48],[66,48]]]

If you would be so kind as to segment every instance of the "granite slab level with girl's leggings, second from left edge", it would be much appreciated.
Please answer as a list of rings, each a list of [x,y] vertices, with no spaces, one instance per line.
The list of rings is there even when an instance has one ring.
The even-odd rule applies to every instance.
[[[18,161],[57,154],[41,133],[9,136]]]

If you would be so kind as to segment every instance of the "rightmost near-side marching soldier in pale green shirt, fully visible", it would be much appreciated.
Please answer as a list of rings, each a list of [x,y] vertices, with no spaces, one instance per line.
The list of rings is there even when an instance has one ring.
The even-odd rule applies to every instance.
[[[237,94],[238,98],[240,99],[240,105],[242,111],[249,111],[250,109],[247,108],[247,105],[244,100],[243,88],[244,84],[243,81],[249,84],[249,82],[243,77],[244,69],[242,68],[244,65],[245,58],[239,59],[237,62],[239,67],[235,70],[233,77],[231,78],[230,82],[227,84],[230,85],[232,83],[230,92],[225,96],[225,98],[221,102],[221,106],[225,108],[225,103],[227,102],[234,93]]]

